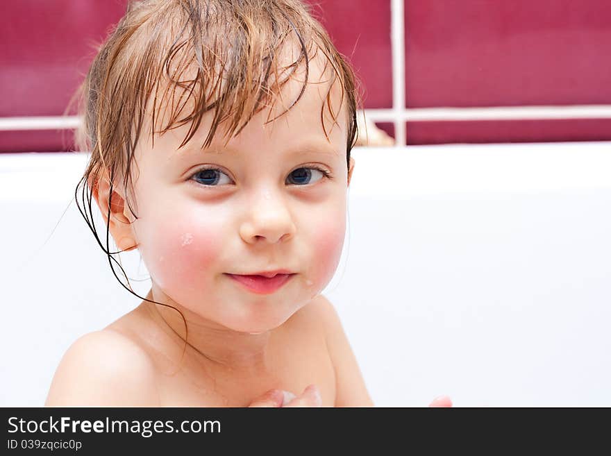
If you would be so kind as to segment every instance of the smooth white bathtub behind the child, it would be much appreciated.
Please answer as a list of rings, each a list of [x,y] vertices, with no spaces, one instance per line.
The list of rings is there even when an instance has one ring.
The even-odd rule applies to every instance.
[[[324,293],[376,405],[611,406],[610,146],[353,152]],[[85,158],[0,155],[0,406],[42,405],[69,344],[139,303],[69,205]]]

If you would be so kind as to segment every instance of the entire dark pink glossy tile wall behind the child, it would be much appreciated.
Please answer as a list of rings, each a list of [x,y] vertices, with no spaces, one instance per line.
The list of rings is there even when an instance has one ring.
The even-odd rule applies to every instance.
[[[392,105],[390,0],[308,0],[364,86]],[[126,0],[3,6],[0,116],[62,115]],[[608,0],[405,0],[409,108],[611,104]],[[611,140],[610,121],[412,122],[408,144]],[[384,128],[392,130],[391,126]],[[0,151],[72,147],[57,131],[0,132]]]

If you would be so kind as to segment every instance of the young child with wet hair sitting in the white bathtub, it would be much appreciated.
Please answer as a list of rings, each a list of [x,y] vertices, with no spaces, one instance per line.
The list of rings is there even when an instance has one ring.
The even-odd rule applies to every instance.
[[[320,294],[344,242],[354,76],[305,7],[134,2],[83,95],[83,215],[117,278],[110,237],[152,285],[69,348],[46,405],[373,405]]]

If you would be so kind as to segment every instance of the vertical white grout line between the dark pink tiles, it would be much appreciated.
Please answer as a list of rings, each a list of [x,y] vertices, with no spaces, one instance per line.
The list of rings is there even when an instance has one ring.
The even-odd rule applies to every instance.
[[[405,24],[403,0],[390,1],[390,44],[392,48],[392,112],[396,146],[405,145],[405,121],[401,112],[405,110]],[[367,110],[365,111],[367,115]]]

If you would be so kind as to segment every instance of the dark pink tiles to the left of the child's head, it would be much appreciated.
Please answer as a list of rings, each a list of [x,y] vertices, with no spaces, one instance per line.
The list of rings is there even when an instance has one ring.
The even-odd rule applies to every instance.
[[[125,0],[19,0],[2,6],[0,117],[62,115]],[[65,151],[69,130],[0,131],[0,152]]]

